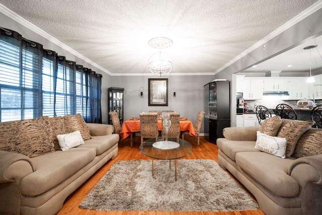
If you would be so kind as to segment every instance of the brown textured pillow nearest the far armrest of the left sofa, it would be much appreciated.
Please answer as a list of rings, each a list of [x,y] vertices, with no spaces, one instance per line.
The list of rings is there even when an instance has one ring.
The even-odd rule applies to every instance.
[[[90,129],[87,127],[86,122],[81,114],[64,116],[64,123],[66,126],[66,132],[71,133],[79,130],[84,140],[91,139]]]

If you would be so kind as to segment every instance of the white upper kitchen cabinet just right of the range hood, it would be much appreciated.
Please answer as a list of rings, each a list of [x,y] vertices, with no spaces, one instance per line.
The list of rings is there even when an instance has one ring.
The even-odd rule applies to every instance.
[[[294,78],[288,81],[288,93],[290,100],[302,100],[309,98],[309,87],[306,78]]]

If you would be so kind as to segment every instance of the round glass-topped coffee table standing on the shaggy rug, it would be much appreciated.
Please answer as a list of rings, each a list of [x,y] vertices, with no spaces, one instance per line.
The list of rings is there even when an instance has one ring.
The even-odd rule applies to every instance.
[[[192,145],[183,139],[168,138],[168,141],[162,137],[150,138],[142,142],[140,151],[144,155],[159,159],[169,160],[171,169],[171,160],[175,160],[175,180],[177,181],[177,159],[184,158],[192,152]],[[153,160],[152,160],[152,176],[153,176]]]

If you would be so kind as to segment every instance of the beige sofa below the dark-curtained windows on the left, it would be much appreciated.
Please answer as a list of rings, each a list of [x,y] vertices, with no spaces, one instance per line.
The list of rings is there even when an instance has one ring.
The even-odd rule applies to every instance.
[[[68,195],[117,156],[119,135],[112,134],[112,125],[78,119],[79,115],[68,115],[0,123],[0,214],[55,214]],[[82,137],[84,130],[89,132],[85,144],[61,151],[54,137],[75,129]],[[42,145],[47,139],[39,138],[46,132],[49,144]],[[32,139],[32,144],[16,148],[24,139]],[[22,152],[30,145],[38,149]]]

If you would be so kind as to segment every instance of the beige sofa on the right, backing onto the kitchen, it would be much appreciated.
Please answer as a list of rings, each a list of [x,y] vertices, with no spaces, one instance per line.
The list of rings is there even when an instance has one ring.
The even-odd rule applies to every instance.
[[[282,119],[271,135],[287,140],[286,158],[255,148],[262,125],[224,128],[225,138],[217,139],[218,162],[255,196],[266,215],[322,214],[322,129],[290,122]]]

